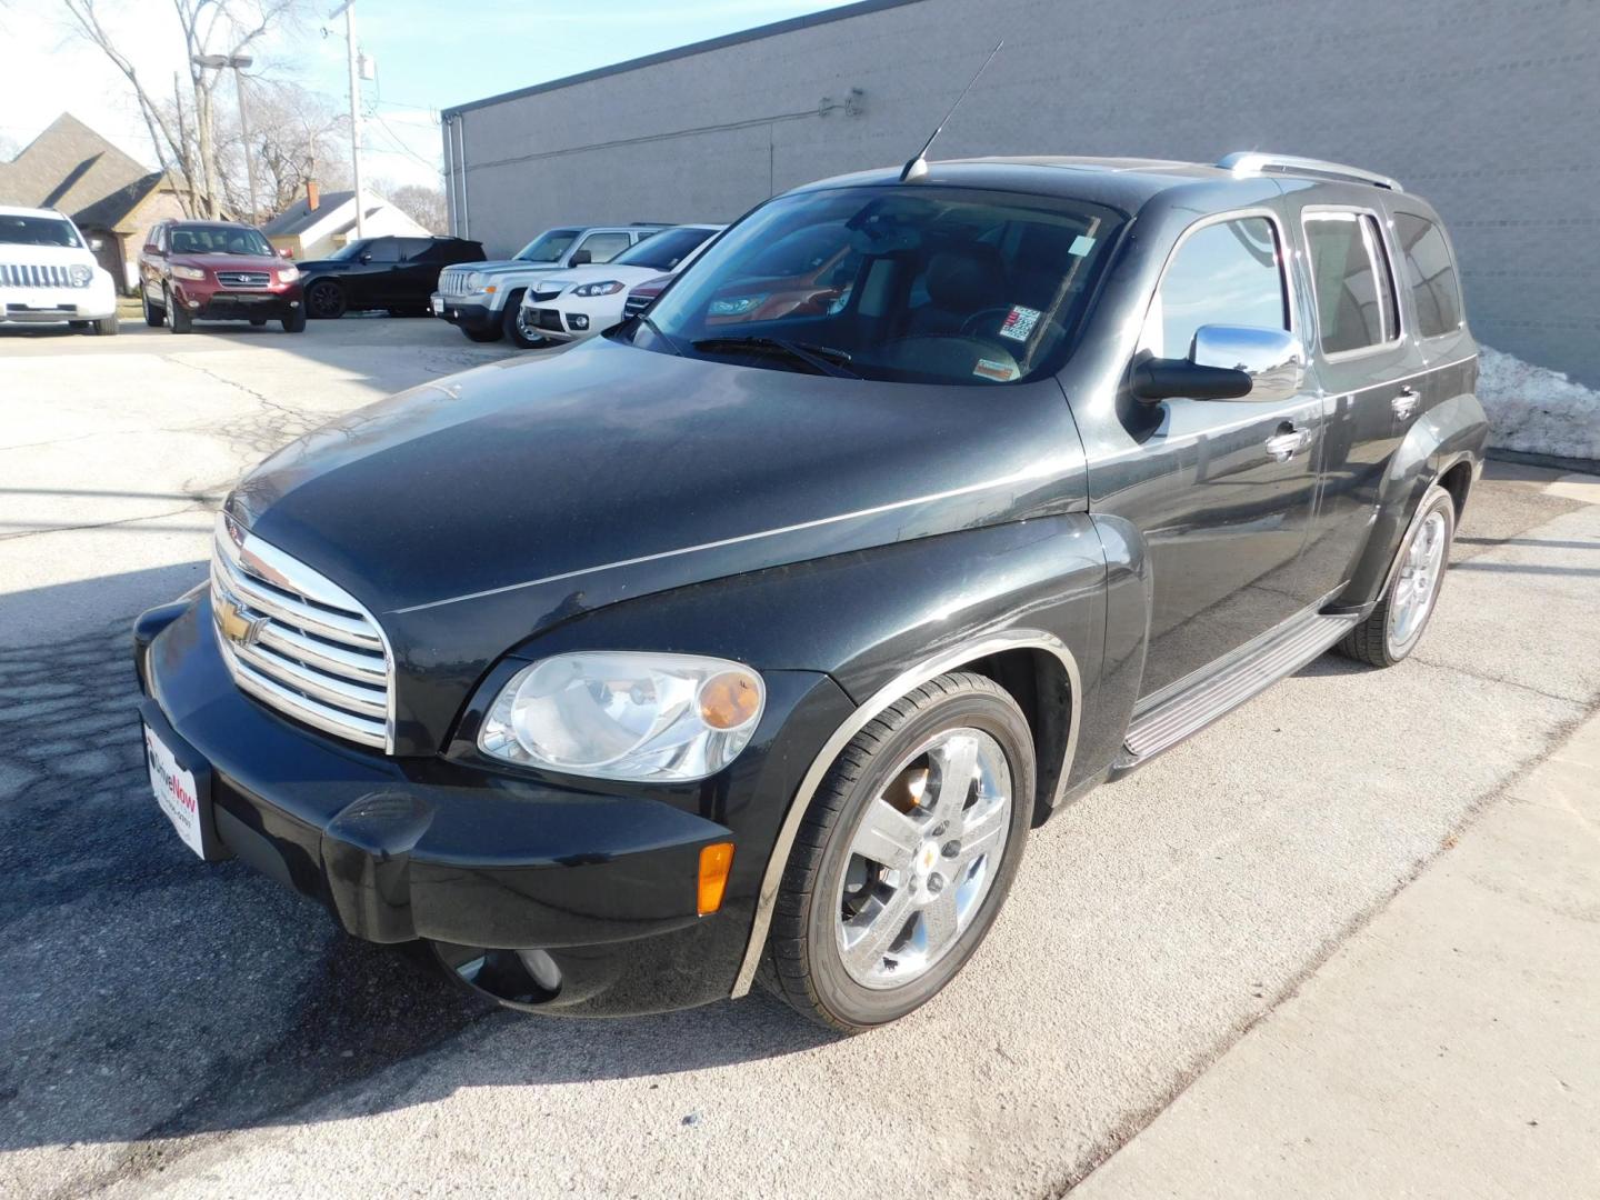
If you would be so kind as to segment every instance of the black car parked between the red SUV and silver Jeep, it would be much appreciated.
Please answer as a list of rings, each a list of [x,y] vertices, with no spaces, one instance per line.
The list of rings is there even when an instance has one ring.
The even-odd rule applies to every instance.
[[[482,262],[483,243],[459,237],[366,237],[333,258],[298,264],[310,317],[387,309],[395,317],[426,317],[438,272],[456,262]]]

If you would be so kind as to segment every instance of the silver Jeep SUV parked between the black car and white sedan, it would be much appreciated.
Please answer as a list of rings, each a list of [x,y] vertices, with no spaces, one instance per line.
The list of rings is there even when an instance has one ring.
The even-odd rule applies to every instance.
[[[517,309],[533,280],[562,267],[610,262],[661,229],[666,226],[547,229],[518,250],[515,258],[445,267],[438,272],[438,291],[432,296],[434,315],[458,326],[475,342],[510,338],[528,349],[536,342],[526,341],[517,330]]]

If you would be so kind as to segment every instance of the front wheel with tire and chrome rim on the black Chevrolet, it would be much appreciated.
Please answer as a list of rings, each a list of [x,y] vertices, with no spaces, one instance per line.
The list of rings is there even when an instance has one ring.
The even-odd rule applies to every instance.
[[[990,678],[941,675],[890,706],[811,800],[763,986],[846,1034],[938,995],[1011,890],[1035,774],[1027,718]]]

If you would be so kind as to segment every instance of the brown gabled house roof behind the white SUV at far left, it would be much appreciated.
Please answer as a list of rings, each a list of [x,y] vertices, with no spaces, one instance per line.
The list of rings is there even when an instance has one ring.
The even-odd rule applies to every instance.
[[[56,208],[93,229],[115,229],[160,182],[70,112],[0,163],[0,202]]]

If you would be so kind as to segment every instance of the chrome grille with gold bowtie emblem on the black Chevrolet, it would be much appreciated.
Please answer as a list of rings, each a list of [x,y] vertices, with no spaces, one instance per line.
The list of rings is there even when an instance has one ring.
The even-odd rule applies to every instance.
[[[211,552],[211,618],[240,691],[323,733],[394,750],[394,658],[378,621],[226,514]]]

